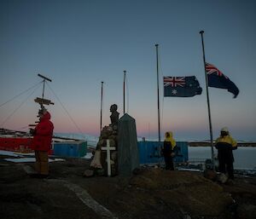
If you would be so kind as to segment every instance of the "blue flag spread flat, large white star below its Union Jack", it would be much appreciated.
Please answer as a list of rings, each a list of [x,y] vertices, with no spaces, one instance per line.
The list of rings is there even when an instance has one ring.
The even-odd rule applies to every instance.
[[[195,76],[164,77],[164,96],[190,97],[201,95],[201,91]]]

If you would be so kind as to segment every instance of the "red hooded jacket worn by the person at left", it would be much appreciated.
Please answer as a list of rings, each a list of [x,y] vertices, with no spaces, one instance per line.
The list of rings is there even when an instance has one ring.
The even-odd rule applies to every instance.
[[[46,112],[35,128],[35,135],[32,140],[32,149],[35,151],[49,151],[54,130],[49,112]]]

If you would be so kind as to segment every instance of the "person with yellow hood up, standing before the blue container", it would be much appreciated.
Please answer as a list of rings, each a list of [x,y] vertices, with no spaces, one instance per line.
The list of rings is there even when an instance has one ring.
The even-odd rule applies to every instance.
[[[172,159],[175,156],[174,147],[176,147],[176,141],[172,137],[172,131],[167,131],[164,147],[162,149],[166,163],[166,170],[174,170]]]

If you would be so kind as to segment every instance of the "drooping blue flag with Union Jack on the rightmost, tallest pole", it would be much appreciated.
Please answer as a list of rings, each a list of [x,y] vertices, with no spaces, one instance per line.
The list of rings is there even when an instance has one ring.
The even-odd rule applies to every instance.
[[[230,78],[226,77],[223,72],[220,72],[216,66],[206,63],[208,86],[219,89],[228,89],[234,95],[234,98],[239,94],[239,89],[236,87]]]

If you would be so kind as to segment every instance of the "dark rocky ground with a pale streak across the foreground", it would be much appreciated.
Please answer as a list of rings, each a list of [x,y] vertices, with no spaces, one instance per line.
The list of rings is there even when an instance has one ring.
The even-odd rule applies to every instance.
[[[48,179],[27,175],[32,163],[0,156],[0,216],[4,219],[256,218],[256,178],[220,185],[201,173],[142,168],[131,177],[84,178],[90,164],[66,158],[49,164]]]

